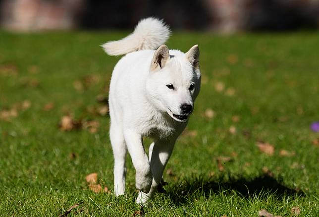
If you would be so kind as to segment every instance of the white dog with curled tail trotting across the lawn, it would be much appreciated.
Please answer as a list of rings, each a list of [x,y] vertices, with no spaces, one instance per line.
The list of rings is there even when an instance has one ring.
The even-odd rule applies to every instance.
[[[129,36],[102,46],[109,55],[126,54],[115,65],[109,86],[114,192],[116,196],[125,193],[128,150],[136,169],[140,204],[156,191],[200,90],[198,45],[185,54],[168,50],[163,44],[169,35],[162,21],[146,18]],[[149,157],[143,136],[154,139]]]

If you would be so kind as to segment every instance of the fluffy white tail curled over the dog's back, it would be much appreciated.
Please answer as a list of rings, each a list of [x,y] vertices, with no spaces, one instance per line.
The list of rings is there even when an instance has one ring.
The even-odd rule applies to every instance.
[[[155,50],[170,36],[169,27],[153,17],[142,19],[134,32],[118,41],[107,42],[102,47],[108,55],[123,55],[140,50]]]

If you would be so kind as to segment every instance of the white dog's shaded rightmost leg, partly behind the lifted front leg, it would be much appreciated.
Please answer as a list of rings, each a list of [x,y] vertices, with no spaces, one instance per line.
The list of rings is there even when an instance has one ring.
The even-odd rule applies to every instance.
[[[157,141],[150,146],[150,161],[151,169],[153,173],[153,183],[149,193],[140,192],[136,203],[145,204],[157,190],[160,184],[164,168],[169,160],[169,157],[173,151],[175,140],[169,141]]]

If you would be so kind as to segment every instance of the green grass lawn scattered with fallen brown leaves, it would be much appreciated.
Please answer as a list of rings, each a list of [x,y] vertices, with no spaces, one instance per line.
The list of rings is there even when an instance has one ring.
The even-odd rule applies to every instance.
[[[310,129],[319,32],[171,37],[168,47],[184,52],[199,44],[202,88],[165,191],[143,210],[129,156],[127,195],[112,194],[109,117],[97,101],[120,58],[99,45],[126,34],[0,32],[0,216],[66,216],[76,204],[68,217],[319,216],[319,133]],[[77,129],[59,127],[64,115]],[[90,190],[94,172],[110,192]]]

